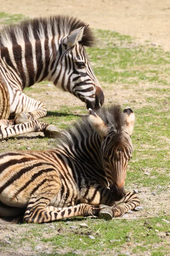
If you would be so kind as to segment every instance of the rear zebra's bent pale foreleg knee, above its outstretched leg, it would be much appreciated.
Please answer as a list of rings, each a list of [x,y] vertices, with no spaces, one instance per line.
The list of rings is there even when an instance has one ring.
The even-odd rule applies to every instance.
[[[44,103],[34,100],[26,94],[20,92],[19,100],[14,102],[15,108],[15,119],[27,119],[28,121],[36,120],[46,116],[47,108]],[[14,109],[14,106],[12,106]]]

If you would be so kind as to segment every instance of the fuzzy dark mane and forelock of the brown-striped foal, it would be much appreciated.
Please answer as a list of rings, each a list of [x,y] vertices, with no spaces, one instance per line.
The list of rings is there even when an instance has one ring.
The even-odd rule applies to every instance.
[[[111,127],[115,132],[115,140],[122,139],[122,128],[125,125],[125,117],[120,105],[111,104],[108,107],[102,107],[96,111],[96,114],[105,122],[108,127]],[[95,133],[91,126],[88,116],[77,121],[74,125],[60,132],[54,140],[54,147],[59,145],[71,145],[75,141],[80,143],[83,138],[88,138]]]

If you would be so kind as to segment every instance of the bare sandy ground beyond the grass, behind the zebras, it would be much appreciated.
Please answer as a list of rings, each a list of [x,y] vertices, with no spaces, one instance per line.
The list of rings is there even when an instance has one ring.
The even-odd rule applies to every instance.
[[[0,0],[0,12],[29,17],[72,15],[91,27],[152,41],[170,50],[169,0]]]

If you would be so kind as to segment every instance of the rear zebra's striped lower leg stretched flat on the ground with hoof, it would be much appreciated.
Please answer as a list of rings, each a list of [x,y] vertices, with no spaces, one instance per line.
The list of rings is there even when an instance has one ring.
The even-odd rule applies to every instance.
[[[38,120],[33,120],[31,122],[24,122],[18,125],[0,125],[0,140],[37,131],[44,132],[45,136],[47,135],[48,137],[53,137],[59,133],[59,130],[54,125],[48,125]]]

